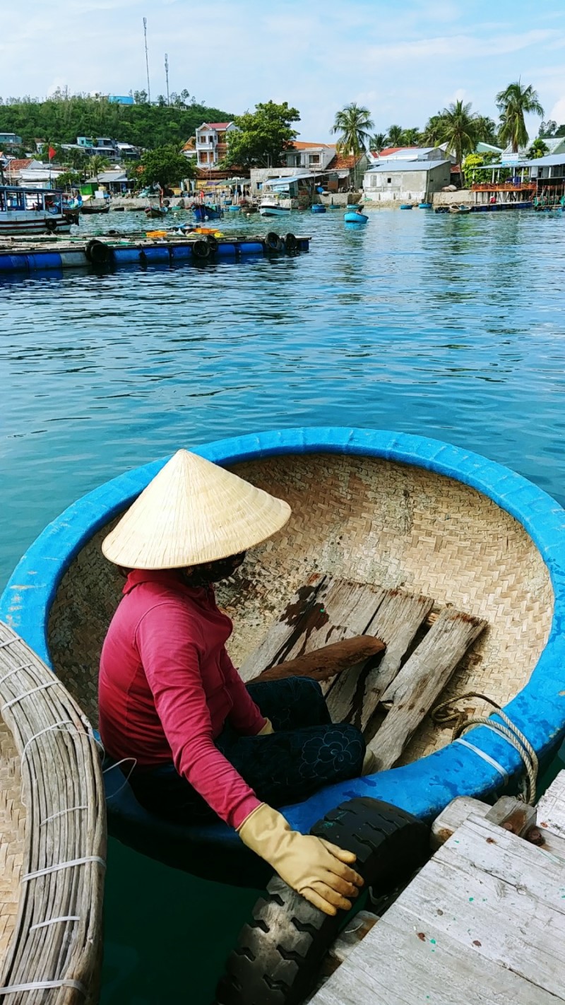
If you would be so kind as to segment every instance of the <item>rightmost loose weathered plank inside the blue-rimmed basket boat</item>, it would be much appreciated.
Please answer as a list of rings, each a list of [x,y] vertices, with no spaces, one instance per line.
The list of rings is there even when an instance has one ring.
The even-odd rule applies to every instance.
[[[485,628],[486,621],[445,608],[432,625],[392,683],[381,703],[389,707],[386,718],[369,747],[378,769],[391,768],[437,696],[452,676],[460,659]]]

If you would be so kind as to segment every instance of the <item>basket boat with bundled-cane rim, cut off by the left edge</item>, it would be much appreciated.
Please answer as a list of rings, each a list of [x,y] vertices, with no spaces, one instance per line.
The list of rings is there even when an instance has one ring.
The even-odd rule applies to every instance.
[[[1,622],[0,715],[0,998],[92,1005],[106,842],[100,751],[58,678]]]

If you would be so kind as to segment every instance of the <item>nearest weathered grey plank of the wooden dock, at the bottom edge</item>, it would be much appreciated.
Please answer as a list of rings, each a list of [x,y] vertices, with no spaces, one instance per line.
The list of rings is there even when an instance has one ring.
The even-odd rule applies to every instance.
[[[563,998],[462,946],[401,897],[311,1005],[560,1005]]]

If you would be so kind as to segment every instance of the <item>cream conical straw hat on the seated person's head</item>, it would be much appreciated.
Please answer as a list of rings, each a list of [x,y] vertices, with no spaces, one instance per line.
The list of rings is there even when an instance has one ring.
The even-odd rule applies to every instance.
[[[150,481],[102,542],[127,569],[180,569],[237,555],[284,527],[290,507],[188,450]]]

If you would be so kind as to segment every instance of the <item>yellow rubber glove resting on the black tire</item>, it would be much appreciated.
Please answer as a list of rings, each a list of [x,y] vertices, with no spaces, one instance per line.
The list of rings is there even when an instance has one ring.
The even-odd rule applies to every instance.
[[[238,828],[244,844],[269,862],[289,886],[326,915],[349,911],[363,880],[349,865],[351,851],[291,830],[282,813],[261,803]]]

